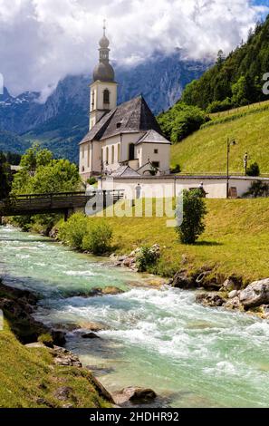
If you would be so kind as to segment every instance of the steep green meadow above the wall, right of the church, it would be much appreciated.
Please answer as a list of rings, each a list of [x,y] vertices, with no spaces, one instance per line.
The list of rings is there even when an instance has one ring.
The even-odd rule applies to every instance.
[[[231,172],[243,173],[248,152],[262,173],[269,173],[269,102],[212,114],[212,121],[172,146],[172,164],[184,173],[226,172],[226,138],[235,138],[231,150]]]

